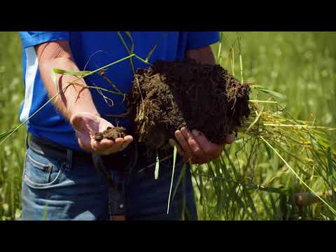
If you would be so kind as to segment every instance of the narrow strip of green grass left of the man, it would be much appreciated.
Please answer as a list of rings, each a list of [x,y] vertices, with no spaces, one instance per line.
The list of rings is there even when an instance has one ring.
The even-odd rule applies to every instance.
[[[18,34],[0,33],[0,132],[18,125],[24,97],[22,50]],[[13,134],[0,146],[0,220],[20,218],[21,179],[25,160],[25,130]]]

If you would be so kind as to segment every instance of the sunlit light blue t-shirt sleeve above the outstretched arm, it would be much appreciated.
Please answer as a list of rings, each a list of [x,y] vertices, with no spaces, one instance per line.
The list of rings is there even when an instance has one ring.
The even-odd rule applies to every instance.
[[[48,41],[69,40],[69,31],[19,31],[19,34],[23,48]]]

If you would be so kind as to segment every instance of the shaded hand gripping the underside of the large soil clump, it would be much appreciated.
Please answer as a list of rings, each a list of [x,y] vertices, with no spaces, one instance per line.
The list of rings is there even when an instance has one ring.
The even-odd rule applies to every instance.
[[[223,145],[211,143],[201,132],[193,130],[190,132],[186,127],[176,130],[175,137],[179,145],[171,139],[171,145],[177,147],[179,154],[189,160],[192,164],[202,165],[218,158]],[[225,144],[231,144],[235,141],[235,135],[229,134],[225,139]]]

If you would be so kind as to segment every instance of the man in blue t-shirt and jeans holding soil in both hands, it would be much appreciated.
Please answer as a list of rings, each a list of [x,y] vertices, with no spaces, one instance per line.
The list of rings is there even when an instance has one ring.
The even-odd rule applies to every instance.
[[[98,69],[134,52],[145,58],[157,45],[150,62],[158,59],[174,60],[190,57],[203,64],[214,64],[214,55],[209,45],[218,41],[218,32],[84,32],[84,31],[32,31],[20,32],[23,47],[25,78],[25,102],[20,110],[24,121],[41,108],[49,97],[57,93],[52,80],[52,69]],[[127,47],[127,48],[126,48]],[[147,67],[133,58],[134,69]],[[123,92],[132,88],[130,60],[114,64],[104,72]],[[57,76],[57,85],[62,90],[76,77]],[[92,155],[109,155],[111,169],[126,169],[127,164],[117,161],[120,153],[134,158],[132,128],[126,118],[111,118],[109,115],[125,113],[123,97],[85,88],[87,85],[104,87],[111,85],[102,76],[95,74],[69,85],[58,99],[49,103],[27,123],[31,139],[28,143],[25,171],[22,182],[22,219],[47,220],[106,220],[108,214],[108,188],[104,178],[94,169]],[[130,135],[115,141],[95,141],[92,132],[102,132],[107,127],[124,126]],[[220,155],[223,146],[209,142],[201,132],[186,128],[176,130],[179,153],[192,164],[209,162]],[[232,142],[228,136],[228,143]],[[139,150],[138,150],[139,151]],[[139,153],[144,152],[144,148]],[[163,157],[161,157],[163,158]],[[155,160],[152,160],[152,163]],[[193,196],[190,167],[185,175],[184,186],[179,186],[167,214],[167,200],[171,179],[172,162],[160,163],[157,180],[148,179],[146,168],[153,166],[139,157],[132,169],[126,188],[126,218],[174,220],[186,214],[196,219],[197,211]],[[176,169],[179,177],[182,162]],[[125,166],[125,167],[123,167]],[[174,182],[176,185],[176,181]],[[183,203],[183,199],[184,203]],[[185,206],[185,207],[183,207]],[[186,211],[185,211],[186,209]]]

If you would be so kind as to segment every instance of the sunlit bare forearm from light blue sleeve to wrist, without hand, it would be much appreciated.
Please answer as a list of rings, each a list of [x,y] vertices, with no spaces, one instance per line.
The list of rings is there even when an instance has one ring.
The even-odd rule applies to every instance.
[[[78,71],[78,67],[71,57],[71,52],[64,52],[64,50],[69,50],[66,43],[64,45],[64,42],[50,42],[36,47],[41,78],[50,97],[57,94],[57,87],[51,78],[52,69]],[[85,81],[76,79],[76,76],[57,75],[58,90],[61,92],[58,99],[54,99],[55,106],[67,119],[78,112],[89,112],[99,116]],[[80,85],[69,85],[73,80],[76,80],[76,83]]]

